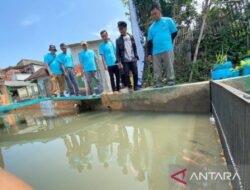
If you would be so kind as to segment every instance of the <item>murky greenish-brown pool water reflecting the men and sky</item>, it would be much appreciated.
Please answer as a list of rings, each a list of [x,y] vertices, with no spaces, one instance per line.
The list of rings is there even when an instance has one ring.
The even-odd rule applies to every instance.
[[[32,114],[31,114],[32,113]],[[209,115],[88,112],[0,117],[0,166],[38,190],[231,189],[177,176],[226,171]]]

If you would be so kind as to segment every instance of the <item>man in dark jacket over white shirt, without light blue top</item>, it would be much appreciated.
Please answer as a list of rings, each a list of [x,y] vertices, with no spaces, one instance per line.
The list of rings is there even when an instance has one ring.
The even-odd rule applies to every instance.
[[[116,40],[116,58],[119,63],[122,63],[125,77],[125,86],[132,88],[129,72],[133,74],[134,90],[138,90],[138,69],[137,61],[139,60],[135,39],[127,33],[127,23],[124,21],[118,22],[118,29],[121,36]]]

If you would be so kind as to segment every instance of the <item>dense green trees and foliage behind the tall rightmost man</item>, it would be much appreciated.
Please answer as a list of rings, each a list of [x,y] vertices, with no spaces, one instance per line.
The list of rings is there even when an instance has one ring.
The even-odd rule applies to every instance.
[[[150,7],[153,2],[134,0],[144,36],[147,36],[147,29],[152,22]],[[204,0],[201,13],[196,9],[196,0],[158,2],[163,16],[172,17],[179,28],[175,40],[174,64],[177,83],[210,79],[211,67],[216,63],[216,53],[221,52],[222,48],[234,63],[239,63],[242,55],[246,54],[249,48],[247,20],[250,18],[250,5],[248,3],[244,11],[244,0]],[[147,71],[152,71],[151,65],[148,65]],[[151,74],[145,76],[146,81],[152,78]]]

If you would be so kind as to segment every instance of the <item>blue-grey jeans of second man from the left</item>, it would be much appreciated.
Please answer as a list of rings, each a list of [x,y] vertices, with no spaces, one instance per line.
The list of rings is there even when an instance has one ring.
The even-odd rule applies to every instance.
[[[66,82],[69,88],[70,95],[79,95],[79,87],[75,78],[75,71],[73,68],[65,68],[67,72]]]

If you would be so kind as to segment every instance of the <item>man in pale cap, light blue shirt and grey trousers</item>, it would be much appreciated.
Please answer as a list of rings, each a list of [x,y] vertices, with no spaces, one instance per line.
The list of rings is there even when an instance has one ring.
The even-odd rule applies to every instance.
[[[97,57],[93,50],[88,49],[87,42],[81,42],[82,51],[79,53],[79,62],[82,65],[82,75],[86,77],[90,95],[95,94],[93,82],[97,84],[98,94],[103,91],[99,77],[97,77]]]

